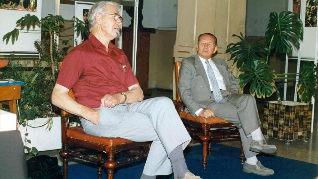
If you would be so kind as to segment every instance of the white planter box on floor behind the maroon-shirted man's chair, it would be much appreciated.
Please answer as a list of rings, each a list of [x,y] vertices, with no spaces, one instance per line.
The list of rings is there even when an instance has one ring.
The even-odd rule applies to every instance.
[[[31,126],[41,126],[47,119],[48,118],[36,118],[34,120],[29,120],[28,122]],[[61,117],[53,117],[51,131],[46,129],[46,127],[47,125],[37,128],[27,127],[27,133],[29,133],[28,140],[31,140],[31,144],[27,144],[28,147],[36,147],[38,151],[62,148]],[[24,141],[26,127],[20,125],[18,130],[21,132],[21,137]]]

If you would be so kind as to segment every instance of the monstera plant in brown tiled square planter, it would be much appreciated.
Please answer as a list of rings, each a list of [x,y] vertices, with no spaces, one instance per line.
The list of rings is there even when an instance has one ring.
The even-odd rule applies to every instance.
[[[304,63],[300,73],[275,74],[268,61],[273,53],[291,54],[293,43],[299,48],[303,38],[303,26],[297,14],[283,11],[279,15],[270,13],[265,38],[246,40],[243,34],[232,35],[240,39],[227,46],[226,53],[236,62],[237,68],[244,73],[239,75],[243,88],[250,84],[250,93],[258,98],[270,97],[276,93],[277,102],[266,103],[264,109],[263,133],[285,141],[308,138],[312,105],[281,101],[275,80],[288,79],[297,75],[297,92],[302,103],[311,103],[317,89],[316,65]],[[300,104],[300,105],[299,105]],[[287,121],[289,119],[289,121]]]

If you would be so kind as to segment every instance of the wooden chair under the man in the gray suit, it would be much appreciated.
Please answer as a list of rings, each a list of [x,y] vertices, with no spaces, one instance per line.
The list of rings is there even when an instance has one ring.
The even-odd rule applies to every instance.
[[[203,145],[202,163],[204,170],[208,162],[207,154],[211,155],[211,143],[220,142],[223,139],[238,139],[240,142],[240,135],[238,128],[223,118],[204,118],[193,117],[190,113],[184,112],[183,102],[179,96],[178,78],[181,61],[175,63],[176,76],[176,109],[180,118],[187,128],[192,139],[198,140]],[[245,155],[241,142],[240,159],[242,164],[245,161]]]

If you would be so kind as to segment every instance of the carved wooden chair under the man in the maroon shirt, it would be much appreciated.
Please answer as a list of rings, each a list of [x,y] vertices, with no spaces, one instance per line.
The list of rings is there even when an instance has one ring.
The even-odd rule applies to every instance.
[[[59,63],[58,69],[60,69],[61,64],[62,62]],[[70,90],[68,94],[75,100],[72,90]],[[151,144],[151,142],[133,142],[122,138],[97,137],[89,135],[84,133],[83,128],[81,126],[72,127],[70,125],[70,117],[73,117],[73,115],[61,109],[63,148],[59,152],[59,154],[61,157],[63,157],[63,175],[65,179],[67,179],[67,166],[68,159],[70,157],[76,157],[79,159],[84,159],[86,161],[97,163],[98,179],[101,179],[103,165],[107,169],[107,178],[113,179],[114,169],[117,167],[117,165],[143,159],[148,156],[150,147],[149,144]],[[70,150],[69,144],[73,144],[81,148]],[[142,147],[144,150],[132,150],[136,147]],[[89,149],[97,151],[97,158],[86,154],[87,152],[91,151]],[[120,161],[116,161],[115,154],[122,151],[127,151],[130,154],[134,154],[134,156],[129,156]],[[102,159],[102,153],[107,154],[106,160]]]

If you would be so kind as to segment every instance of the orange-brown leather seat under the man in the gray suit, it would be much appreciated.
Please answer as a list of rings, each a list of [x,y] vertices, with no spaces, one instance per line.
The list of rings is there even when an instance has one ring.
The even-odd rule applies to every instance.
[[[204,118],[204,117],[193,117],[190,113],[181,111],[180,112],[180,118],[185,118],[197,123],[201,124],[227,124],[230,123],[229,121],[223,119],[223,118]]]

